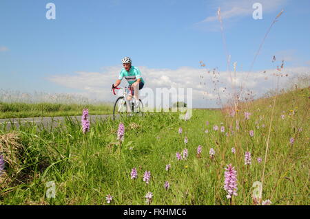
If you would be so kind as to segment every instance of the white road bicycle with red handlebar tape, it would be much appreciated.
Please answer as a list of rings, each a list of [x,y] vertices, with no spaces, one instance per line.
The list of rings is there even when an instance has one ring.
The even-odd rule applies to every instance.
[[[130,87],[114,87],[114,84],[112,84],[111,91],[113,91],[114,95],[116,95],[115,89],[123,90],[123,96],[118,97],[114,104],[113,120],[115,120],[117,115],[123,117],[128,115],[132,116],[135,113],[136,115],[143,116],[143,103],[141,99],[139,99],[140,104],[137,108],[134,107],[134,102],[132,102],[133,98],[135,98],[133,89]],[[127,93],[129,93],[129,91],[132,93],[132,100],[127,100]]]

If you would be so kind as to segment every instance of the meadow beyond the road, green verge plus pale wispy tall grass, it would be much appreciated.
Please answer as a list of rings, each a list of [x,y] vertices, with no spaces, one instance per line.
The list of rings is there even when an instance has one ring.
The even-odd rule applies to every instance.
[[[88,108],[91,115],[112,114],[114,103],[90,100],[66,93],[21,93],[0,89],[0,119],[81,115]]]

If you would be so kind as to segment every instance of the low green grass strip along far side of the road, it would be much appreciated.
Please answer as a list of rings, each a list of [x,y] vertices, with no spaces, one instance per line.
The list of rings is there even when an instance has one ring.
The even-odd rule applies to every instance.
[[[112,114],[112,104],[37,104],[21,102],[0,102],[0,119],[25,117],[54,117],[81,115],[83,108],[88,108],[90,115]]]

